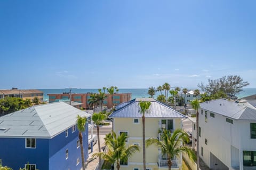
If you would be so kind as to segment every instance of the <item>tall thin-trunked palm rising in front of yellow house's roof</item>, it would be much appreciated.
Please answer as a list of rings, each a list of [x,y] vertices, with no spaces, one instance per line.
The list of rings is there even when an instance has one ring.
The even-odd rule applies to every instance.
[[[145,147],[145,113],[149,111],[151,102],[140,101],[140,113],[142,114],[142,145],[143,145],[143,170],[146,170],[146,147]]]

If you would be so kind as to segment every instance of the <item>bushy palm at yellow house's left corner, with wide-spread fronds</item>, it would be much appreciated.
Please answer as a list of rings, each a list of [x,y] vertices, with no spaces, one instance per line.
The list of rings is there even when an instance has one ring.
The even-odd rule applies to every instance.
[[[116,168],[119,170],[121,161],[126,162],[133,153],[139,151],[139,147],[137,145],[129,145],[126,147],[126,139],[127,136],[125,133],[122,133],[117,137],[116,133],[112,131],[112,133],[107,134],[105,137],[108,152],[94,153],[92,157],[101,157],[111,164],[115,163]]]

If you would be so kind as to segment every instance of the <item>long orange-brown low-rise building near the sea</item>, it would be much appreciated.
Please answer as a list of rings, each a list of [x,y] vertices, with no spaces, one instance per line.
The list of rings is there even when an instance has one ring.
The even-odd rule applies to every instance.
[[[62,93],[62,94],[47,94],[49,95],[49,103],[61,101],[61,100],[69,100],[71,96],[71,101],[81,103],[80,107],[85,108],[86,110],[92,109],[89,106],[89,99],[91,98],[91,93]],[[105,94],[107,98],[103,101],[103,106],[107,108],[113,108],[113,106],[117,106],[120,103],[130,101],[132,98],[131,93],[118,93],[118,94]],[[113,98],[113,102],[112,102]]]

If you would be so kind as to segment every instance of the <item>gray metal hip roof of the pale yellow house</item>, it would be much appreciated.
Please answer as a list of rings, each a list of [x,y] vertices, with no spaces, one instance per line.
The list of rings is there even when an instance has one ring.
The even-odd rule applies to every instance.
[[[131,100],[129,104],[114,111],[109,117],[141,117],[140,114],[140,101],[150,101],[151,105],[149,112],[145,114],[147,118],[186,118],[186,116],[180,114],[178,111],[173,110],[171,107],[158,102],[151,98],[137,98]]]

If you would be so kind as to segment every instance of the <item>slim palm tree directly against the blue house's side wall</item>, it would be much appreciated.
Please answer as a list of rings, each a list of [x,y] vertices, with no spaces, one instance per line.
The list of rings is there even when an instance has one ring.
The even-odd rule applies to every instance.
[[[82,159],[82,167],[83,170],[85,170],[85,158],[84,158],[84,146],[83,146],[83,132],[85,131],[85,124],[86,124],[86,117],[81,117],[77,115],[77,129],[79,131],[78,137],[80,142],[80,148],[81,148],[81,159]]]

